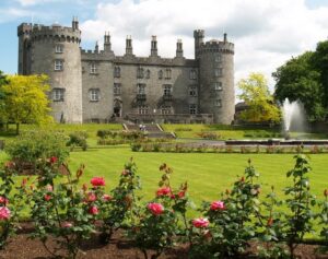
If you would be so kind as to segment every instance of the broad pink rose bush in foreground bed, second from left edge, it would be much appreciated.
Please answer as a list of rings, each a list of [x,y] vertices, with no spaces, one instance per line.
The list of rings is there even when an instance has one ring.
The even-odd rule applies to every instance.
[[[33,238],[39,238],[45,248],[55,257],[60,249],[68,251],[68,258],[75,258],[80,251],[81,242],[90,238],[95,232],[94,222],[98,215],[98,199],[103,196],[103,188],[97,184],[91,189],[78,187],[84,166],[77,170],[75,176],[66,167],[66,180],[61,179],[58,185],[59,164],[56,160],[44,163],[43,174],[37,178],[35,188],[22,186],[31,205],[31,217],[35,225]],[[97,178],[102,179],[102,178]],[[47,239],[51,236],[57,247],[50,250]]]

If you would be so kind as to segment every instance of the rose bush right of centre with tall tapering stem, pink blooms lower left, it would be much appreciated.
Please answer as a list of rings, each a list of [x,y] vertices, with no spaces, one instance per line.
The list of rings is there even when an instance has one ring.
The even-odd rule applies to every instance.
[[[192,221],[196,228],[202,228],[194,227],[191,257],[236,257],[255,236],[256,228],[251,217],[259,211],[260,186],[255,184],[258,173],[250,161],[248,163],[245,175],[234,183],[232,190],[222,195],[219,201],[204,202],[202,212],[208,220]]]

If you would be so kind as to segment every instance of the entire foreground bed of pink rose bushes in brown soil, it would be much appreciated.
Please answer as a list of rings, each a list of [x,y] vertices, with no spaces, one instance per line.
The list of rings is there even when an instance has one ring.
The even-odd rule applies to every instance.
[[[147,202],[137,195],[132,160],[109,192],[101,176],[80,183],[84,165],[72,173],[52,156],[37,160],[35,168],[38,175],[21,184],[14,184],[13,162],[0,170],[0,258],[296,258],[308,233],[327,249],[328,190],[321,198],[311,193],[304,155],[295,156],[286,174],[293,184],[284,188],[284,200],[273,187],[261,197],[259,174],[248,161],[244,175],[216,200],[203,202],[196,219],[187,216],[187,183],[174,188],[166,164]],[[23,212],[30,223],[21,221]]]

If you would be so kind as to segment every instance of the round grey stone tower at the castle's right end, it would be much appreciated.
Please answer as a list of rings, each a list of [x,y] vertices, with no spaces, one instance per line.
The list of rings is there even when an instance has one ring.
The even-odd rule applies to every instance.
[[[223,42],[198,40],[196,52],[199,62],[198,113],[213,114],[214,123],[230,125],[235,114],[234,44],[229,43],[224,34]]]

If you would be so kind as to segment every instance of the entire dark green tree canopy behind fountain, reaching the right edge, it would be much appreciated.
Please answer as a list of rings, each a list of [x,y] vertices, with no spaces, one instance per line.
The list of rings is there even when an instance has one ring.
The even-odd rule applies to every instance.
[[[328,42],[318,43],[315,51],[306,51],[288,60],[272,76],[274,97],[301,101],[309,120],[324,120],[328,111]]]

